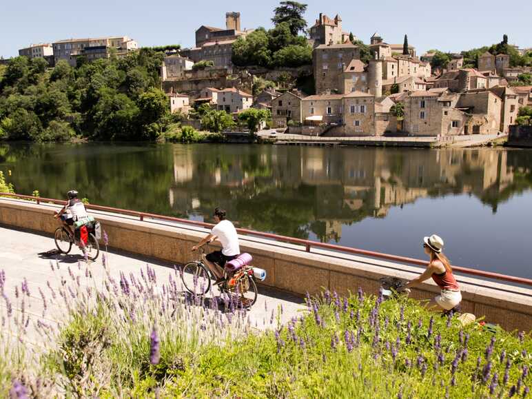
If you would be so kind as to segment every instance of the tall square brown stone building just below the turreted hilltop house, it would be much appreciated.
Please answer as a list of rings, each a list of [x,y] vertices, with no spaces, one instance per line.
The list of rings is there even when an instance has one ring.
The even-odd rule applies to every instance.
[[[344,88],[344,70],[353,59],[360,59],[360,49],[351,43],[318,45],[313,52],[316,93],[340,92]]]

